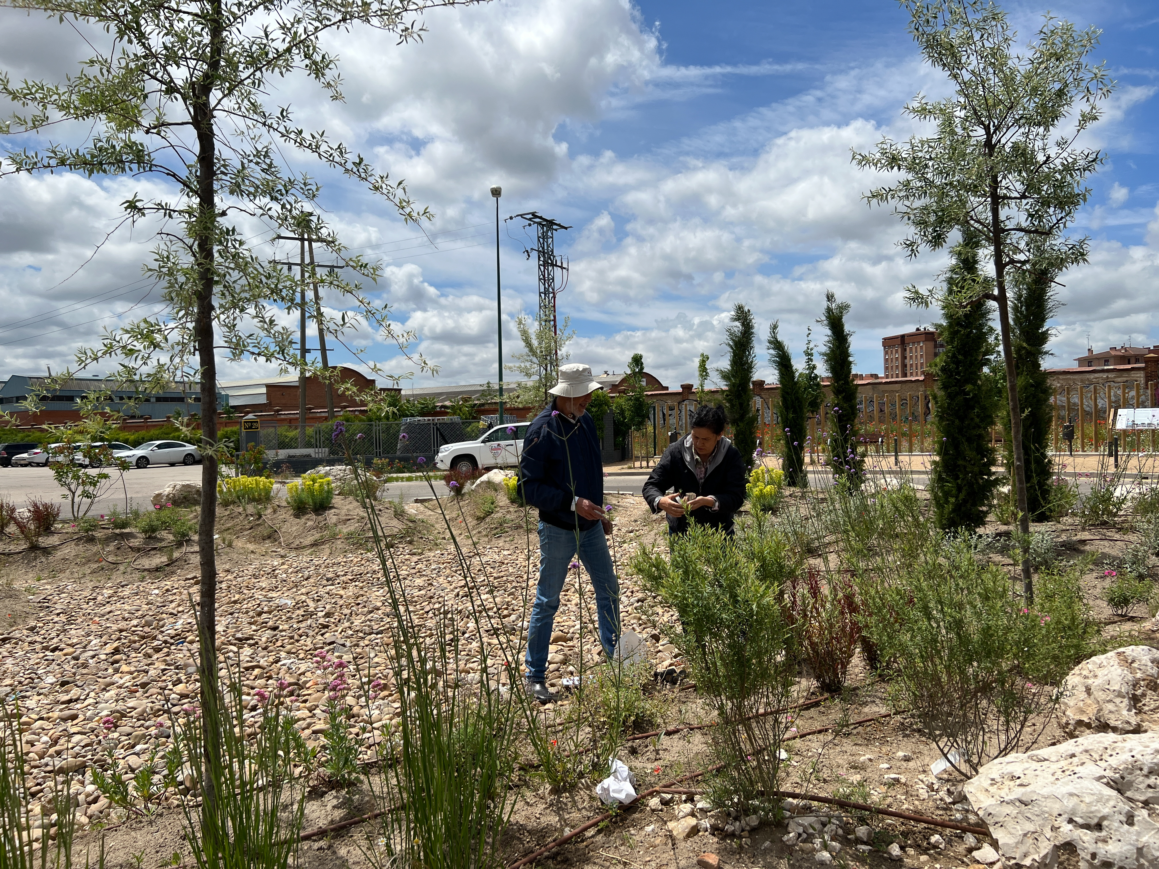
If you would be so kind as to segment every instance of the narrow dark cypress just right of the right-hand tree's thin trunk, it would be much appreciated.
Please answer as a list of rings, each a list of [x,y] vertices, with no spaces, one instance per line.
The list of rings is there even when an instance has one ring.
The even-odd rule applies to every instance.
[[[1026,506],[1030,521],[1050,518],[1050,424],[1054,406],[1043,362],[1050,351],[1050,328],[1047,321],[1058,311],[1054,294],[1054,273],[1032,266],[1015,272],[1011,298],[1014,370],[1018,372],[1018,406],[1022,412],[1022,462],[1026,468]],[[1006,443],[1009,437],[1009,414],[1006,414]],[[1007,447],[1009,454],[1012,446]],[[1013,466],[1013,462],[1011,462]]]

